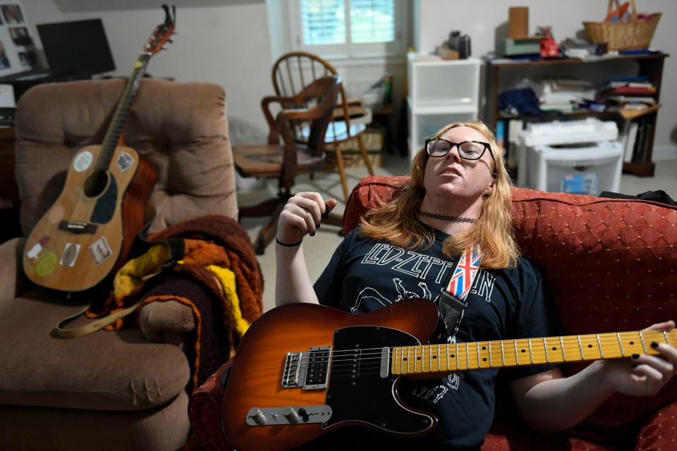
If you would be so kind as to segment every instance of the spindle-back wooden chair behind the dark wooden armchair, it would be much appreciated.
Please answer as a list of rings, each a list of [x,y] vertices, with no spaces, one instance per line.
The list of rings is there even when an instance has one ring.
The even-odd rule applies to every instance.
[[[309,83],[326,75],[338,75],[338,72],[330,63],[317,55],[304,51],[293,51],[281,56],[273,66],[273,87],[279,96],[293,96],[303,90]],[[350,116],[353,116],[351,118]],[[324,144],[330,144],[336,152],[338,174],[341,176],[343,198],[348,201],[348,183],[346,181],[346,167],[341,152],[341,144],[348,140],[356,139],[362,159],[365,161],[367,171],[374,175],[372,163],[367,156],[362,135],[367,129],[365,123],[356,122],[355,112],[348,107],[348,98],[343,85],[339,87],[338,101],[336,102],[335,120],[329,124]],[[339,118],[340,117],[340,118]],[[298,142],[307,140],[307,125],[295,123],[293,127],[295,139]]]

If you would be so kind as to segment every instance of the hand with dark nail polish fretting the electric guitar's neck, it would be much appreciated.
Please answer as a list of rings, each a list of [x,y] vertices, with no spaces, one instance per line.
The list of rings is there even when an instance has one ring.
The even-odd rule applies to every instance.
[[[671,330],[674,321],[657,323],[645,330]],[[657,343],[659,356],[639,354],[635,359],[604,360],[604,382],[618,393],[634,396],[655,395],[677,373],[677,349]]]

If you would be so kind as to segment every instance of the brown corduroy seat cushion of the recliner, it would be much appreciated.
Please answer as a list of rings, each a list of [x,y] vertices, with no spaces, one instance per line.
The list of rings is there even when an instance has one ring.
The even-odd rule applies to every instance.
[[[56,324],[82,308],[42,288],[0,302],[0,404],[134,410],[181,393],[190,378],[183,352],[144,342],[138,327],[59,338]]]

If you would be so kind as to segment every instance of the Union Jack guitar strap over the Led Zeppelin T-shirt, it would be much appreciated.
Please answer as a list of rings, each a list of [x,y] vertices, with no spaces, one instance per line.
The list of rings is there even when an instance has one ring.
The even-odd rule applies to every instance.
[[[472,248],[465,249],[441,290],[437,308],[448,337],[456,335],[458,322],[465,306],[468,305],[468,293],[475,276],[480,271],[481,261],[480,246],[474,245]]]

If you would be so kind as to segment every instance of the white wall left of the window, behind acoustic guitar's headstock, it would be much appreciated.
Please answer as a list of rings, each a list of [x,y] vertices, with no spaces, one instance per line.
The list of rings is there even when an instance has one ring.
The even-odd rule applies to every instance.
[[[267,125],[260,99],[272,92],[271,53],[264,0],[176,1],[176,31],[167,51],[147,72],[180,82],[213,82],[226,89],[233,143],[264,142]],[[117,70],[129,75],[143,44],[164,20],[160,2],[26,0],[32,36],[36,23],[101,18]]]

